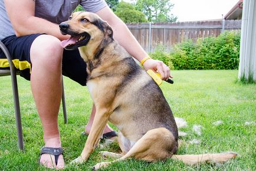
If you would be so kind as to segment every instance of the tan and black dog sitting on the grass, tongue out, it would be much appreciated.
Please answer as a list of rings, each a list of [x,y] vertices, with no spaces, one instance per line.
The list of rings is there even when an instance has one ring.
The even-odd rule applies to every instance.
[[[78,48],[87,64],[87,87],[96,106],[83,152],[71,163],[86,162],[108,121],[119,129],[122,154],[101,152],[117,159],[98,163],[94,170],[130,157],[148,162],[172,158],[198,165],[222,163],[237,156],[232,152],[176,155],[178,129],[168,102],[155,81],[114,40],[110,25],[91,12],[74,12],[59,26],[62,34],[71,35],[61,45],[66,50]]]

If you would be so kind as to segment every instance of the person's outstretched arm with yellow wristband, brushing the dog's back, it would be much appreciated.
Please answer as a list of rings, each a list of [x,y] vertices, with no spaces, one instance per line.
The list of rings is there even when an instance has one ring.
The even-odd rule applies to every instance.
[[[126,24],[118,18],[111,9],[106,6],[100,11],[96,12],[103,20],[107,21],[109,25],[113,28],[114,39],[116,39],[120,45],[122,45],[130,55],[132,55],[136,60],[142,61],[143,58],[148,57],[149,55],[137,42],[136,38],[127,28]],[[145,70],[152,69],[161,75],[162,80],[166,80],[170,75],[170,69],[162,61],[149,59],[143,63]]]

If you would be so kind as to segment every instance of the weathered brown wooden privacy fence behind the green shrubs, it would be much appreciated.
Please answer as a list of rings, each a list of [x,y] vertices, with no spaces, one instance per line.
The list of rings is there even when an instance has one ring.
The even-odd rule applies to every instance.
[[[218,36],[224,30],[241,29],[241,20],[216,20],[193,22],[162,22],[126,24],[140,45],[152,52],[156,46],[165,45],[170,50],[172,45],[184,40]]]

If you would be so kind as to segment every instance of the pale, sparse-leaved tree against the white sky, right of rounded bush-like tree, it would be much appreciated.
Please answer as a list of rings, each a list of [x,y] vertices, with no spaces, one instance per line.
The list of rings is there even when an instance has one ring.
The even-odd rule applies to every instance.
[[[168,0],[138,0],[136,9],[143,12],[150,22],[175,22],[177,17],[170,14],[174,4]]]

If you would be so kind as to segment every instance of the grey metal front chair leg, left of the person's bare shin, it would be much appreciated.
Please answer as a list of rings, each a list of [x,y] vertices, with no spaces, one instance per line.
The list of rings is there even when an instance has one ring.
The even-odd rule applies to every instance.
[[[19,94],[18,94],[18,85],[16,73],[11,75],[12,78],[12,93],[14,95],[14,110],[15,110],[15,120],[18,134],[18,146],[20,150],[24,150],[24,142],[22,135],[22,126],[21,126],[21,110],[19,107]]]

